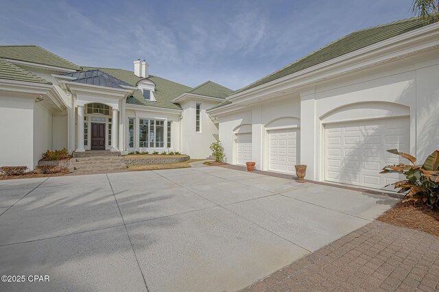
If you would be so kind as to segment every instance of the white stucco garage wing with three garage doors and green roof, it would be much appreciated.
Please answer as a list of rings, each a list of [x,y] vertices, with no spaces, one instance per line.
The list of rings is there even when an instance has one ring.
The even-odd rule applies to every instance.
[[[370,188],[439,149],[439,26],[406,19],[335,40],[208,110],[229,163]],[[407,162],[402,161],[401,162]]]

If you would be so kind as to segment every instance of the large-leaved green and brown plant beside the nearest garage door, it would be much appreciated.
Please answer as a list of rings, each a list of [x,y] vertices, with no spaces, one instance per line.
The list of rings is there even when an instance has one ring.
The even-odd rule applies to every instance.
[[[405,180],[389,184],[399,188],[398,193],[406,193],[403,203],[421,202],[431,208],[439,208],[439,150],[430,154],[423,165],[415,165],[414,156],[399,152],[397,149],[390,149],[388,152],[406,158],[412,163],[387,165],[380,172],[399,173],[405,176]]]

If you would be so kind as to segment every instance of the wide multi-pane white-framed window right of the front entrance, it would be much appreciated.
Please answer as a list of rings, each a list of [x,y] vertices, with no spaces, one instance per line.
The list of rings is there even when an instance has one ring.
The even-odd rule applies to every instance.
[[[165,147],[165,121],[139,119],[139,147]]]

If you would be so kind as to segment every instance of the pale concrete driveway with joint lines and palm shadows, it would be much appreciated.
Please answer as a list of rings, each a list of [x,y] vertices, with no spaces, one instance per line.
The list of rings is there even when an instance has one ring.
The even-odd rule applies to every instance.
[[[25,282],[0,290],[235,291],[395,201],[221,167],[3,180],[0,275]]]

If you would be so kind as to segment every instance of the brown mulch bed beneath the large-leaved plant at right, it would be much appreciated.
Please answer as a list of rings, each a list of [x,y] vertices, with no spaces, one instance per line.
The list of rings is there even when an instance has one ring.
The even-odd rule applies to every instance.
[[[378,220],[439,236],[439,210],[432,210],[428,206],[413,206],[400,202],[394,208],[385,211]]]

